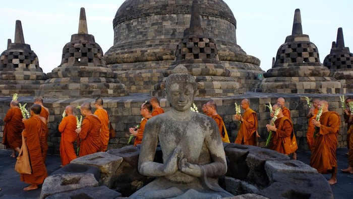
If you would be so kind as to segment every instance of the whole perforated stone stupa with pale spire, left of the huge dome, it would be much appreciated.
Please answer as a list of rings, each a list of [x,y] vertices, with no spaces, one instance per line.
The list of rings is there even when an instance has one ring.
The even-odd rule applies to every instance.
[[[38,96],[45,98],[116,97],[128,95],[106,65],[102,48],[88,34],[85,9],[81,8],[78,34],[63,48],[61,64],[48,73]]]

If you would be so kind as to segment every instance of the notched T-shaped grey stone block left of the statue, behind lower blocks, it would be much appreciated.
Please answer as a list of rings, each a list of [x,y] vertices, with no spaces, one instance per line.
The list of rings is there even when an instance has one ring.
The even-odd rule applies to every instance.
[[[116,179],[115,172],[122,162],[122,157],[117,157],[104,152],[90,154],[71,161],[71,163],[75,164],[98,167],[101,172],[99,184],[105,185],[109,188],[112,187]]]

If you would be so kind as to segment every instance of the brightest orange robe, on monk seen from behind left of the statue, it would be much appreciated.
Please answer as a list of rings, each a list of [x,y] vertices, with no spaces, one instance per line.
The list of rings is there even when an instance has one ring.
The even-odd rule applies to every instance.
[[[106,110],[104,109],[97,109],[94,112],[95,115],[98,116],[98,118],[100,119],[100,122],[102,124],[101,128],[100,128],[100,145],[101,145],[101,152],[105,152],[107,147],[108,147],[108,143],[109,143],[109,117],[108,117],[108,113],[106,112]]]

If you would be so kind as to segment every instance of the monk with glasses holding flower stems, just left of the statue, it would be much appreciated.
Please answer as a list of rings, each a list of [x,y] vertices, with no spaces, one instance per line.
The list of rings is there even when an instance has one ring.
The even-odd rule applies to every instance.
[[[147,120],[152,117],[152,104],[149,102],[145,102],[141,105],[140,114],[143,116],[141,123],[138,128],[131,127],[129,129],[131,135],[135,136],[134,146],[142,143],[143,134],[145,131],[145,125]]]

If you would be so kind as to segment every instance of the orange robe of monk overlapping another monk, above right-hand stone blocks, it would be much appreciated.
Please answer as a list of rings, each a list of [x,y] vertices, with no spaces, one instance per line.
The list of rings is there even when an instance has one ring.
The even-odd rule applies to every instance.
[[[282,119],[283,121],[281,123]],[[283,116],[276,119],[276,121],[274,121],[274,125],[276,126],[277,130],[276,132],[272,132],[270,149],[285,155],[289,155],[284,152],[283,138],[290,137],[293,131],[293,124],[289,118]]]

